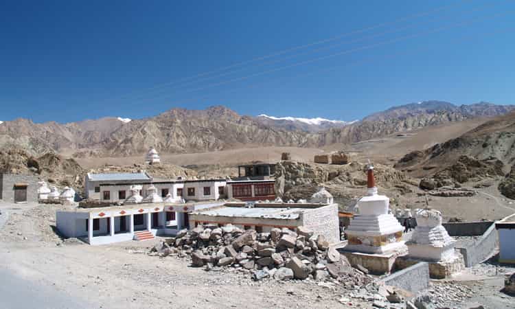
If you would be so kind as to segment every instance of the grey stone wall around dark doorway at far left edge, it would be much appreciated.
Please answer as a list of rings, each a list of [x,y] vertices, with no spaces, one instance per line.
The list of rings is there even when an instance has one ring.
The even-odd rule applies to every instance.
[[[14,203],[14,184],[27,183],[27,202],[38,201],[38,177],[32,175],[0,174],[0,199]]]

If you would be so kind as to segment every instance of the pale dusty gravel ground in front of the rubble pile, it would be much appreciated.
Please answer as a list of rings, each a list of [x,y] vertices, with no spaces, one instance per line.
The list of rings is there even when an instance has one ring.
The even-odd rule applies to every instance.
[[[343,306],[339,303],[343,293],[339,285],[328,288],[315,282],[253,282],[248,275],[206,272],[190,267],[185,260],[146,255],[157,240],[100,247],[62,242],[51,227],[58,208],[0,204],[0,217],[9,217],[0,230],[0,271],[51,287],[60,295],[82,302],[85,308]],[[352,304],[371,307],[354,300]]]

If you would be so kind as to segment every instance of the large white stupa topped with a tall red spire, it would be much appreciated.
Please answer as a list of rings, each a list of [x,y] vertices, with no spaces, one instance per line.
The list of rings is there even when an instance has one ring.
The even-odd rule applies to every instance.
[[[377,194],[373,166],[368,169],[367,187],[367,196],[363,196],[357,203],[359,216],[345,229],[348,240],[345,251],[381,255],[407,253],[407,247],[402,241],[404,227],[393,214],[388,213],[389,198]]]

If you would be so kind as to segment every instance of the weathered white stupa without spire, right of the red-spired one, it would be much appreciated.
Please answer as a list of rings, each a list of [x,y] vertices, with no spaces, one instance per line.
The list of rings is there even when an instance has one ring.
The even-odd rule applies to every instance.
[[[442,213],[436,209],[418,209],[417,227],[407,242],[410,258],[444,261],[455,258],[455,242],[442,225]]]

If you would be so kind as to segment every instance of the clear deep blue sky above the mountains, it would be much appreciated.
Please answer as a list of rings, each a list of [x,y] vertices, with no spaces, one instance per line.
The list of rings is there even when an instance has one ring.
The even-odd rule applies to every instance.
[[[515,1],[2,1],[0,120],[515,104],[514,15]]]

